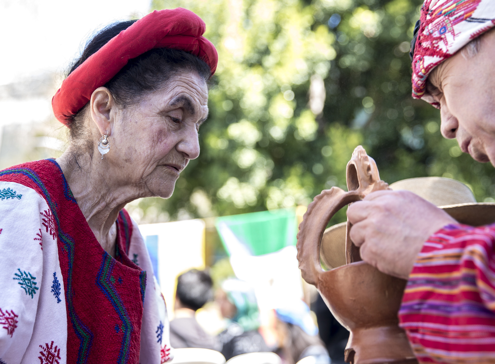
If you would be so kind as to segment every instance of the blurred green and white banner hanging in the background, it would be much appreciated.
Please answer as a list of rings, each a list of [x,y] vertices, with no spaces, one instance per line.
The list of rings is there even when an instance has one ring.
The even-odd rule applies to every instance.
[[[261,315],[302,299],[295,209],[219,217],[216,228],[237,278],[254,287]]]

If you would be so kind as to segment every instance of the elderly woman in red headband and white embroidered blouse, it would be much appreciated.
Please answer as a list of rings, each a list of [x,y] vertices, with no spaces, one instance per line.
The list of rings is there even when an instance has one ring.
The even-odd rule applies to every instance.
[[[160,288],[123,207],[170,197],[198,157],[217,63],[204,30],[181,8],[103,29],[52,101],[66,152],[0,172],[0,363],[172,359]]]

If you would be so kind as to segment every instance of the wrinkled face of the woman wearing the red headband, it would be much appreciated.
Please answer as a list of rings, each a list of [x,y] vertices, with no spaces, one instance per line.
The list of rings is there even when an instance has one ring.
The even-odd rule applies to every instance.
[[[207,101],[204,80],[185,71],[140,104],[112,108],[105,158],[113,181],[137,186],[142,195],[170,197],[180,172],[199,156],[198,130],[208,115]]]

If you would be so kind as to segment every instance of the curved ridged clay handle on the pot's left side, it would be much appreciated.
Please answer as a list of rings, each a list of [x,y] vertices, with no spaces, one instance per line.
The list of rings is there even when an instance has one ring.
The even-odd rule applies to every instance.
[[[320,263],[321,238],[328,221],[344,206],[361,200],[358,191],[345,192],[339,187],[324,190],[309,204],[297,233],[297,260],[302,278],[316,285],[323,273]]]

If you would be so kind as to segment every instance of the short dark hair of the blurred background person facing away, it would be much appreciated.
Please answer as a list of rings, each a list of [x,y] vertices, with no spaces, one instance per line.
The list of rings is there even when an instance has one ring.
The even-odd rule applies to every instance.
[[[208,273],[191,269],[177,277],[176,297],[182,306],[197,311],[211,299],[213,281]]]

